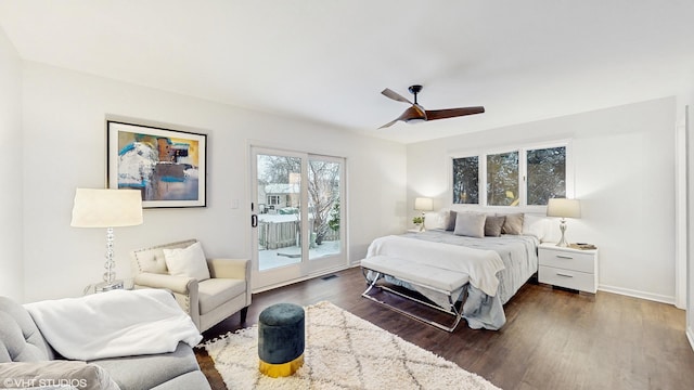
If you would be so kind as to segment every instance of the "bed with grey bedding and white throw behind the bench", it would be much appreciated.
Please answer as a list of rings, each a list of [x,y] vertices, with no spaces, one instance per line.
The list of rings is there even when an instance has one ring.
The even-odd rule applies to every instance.
[[[455,292],[461,315],[471,328],[497,330],[506,321],[503,304],[538,271],[537,248],[543,236],[544,219],[529,216],[522,223],[523,227],[512,232],[515,234],[498,236],[462,235],[461,230],[441,227],[378,237],[369,246],[367,258],[400,258],[470,274],[470,283]],[[367,270],[364,276],[370,283],[374,281],[373,272]],[[420,292],[440,308],[448,307],[440,291],[389,275],[385,280]]]

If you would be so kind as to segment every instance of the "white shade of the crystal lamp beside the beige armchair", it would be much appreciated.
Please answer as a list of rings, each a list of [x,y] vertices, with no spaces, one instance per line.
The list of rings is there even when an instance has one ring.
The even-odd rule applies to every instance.
[[[77,188],[74,227],[119,227],[142,224],[142,195],[137,190]]]

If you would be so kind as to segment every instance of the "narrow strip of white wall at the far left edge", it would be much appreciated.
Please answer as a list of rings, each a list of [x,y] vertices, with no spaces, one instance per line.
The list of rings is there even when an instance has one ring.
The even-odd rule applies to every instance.
[[[22,67],[0,29],[0,296],[24,298],[22,281]]]

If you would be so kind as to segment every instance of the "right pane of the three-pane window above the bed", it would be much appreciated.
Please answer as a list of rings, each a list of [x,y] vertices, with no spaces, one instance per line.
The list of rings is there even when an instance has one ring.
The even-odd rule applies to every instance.
[[[528,151],[528,205],[566,197],[566,147]]]

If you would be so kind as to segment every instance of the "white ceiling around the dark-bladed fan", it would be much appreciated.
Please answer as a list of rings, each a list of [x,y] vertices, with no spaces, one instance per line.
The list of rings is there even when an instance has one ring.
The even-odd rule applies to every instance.
[[[692,91],[691,0],[0,0],[28,61],[416,142]],[[408,106],[485,114],[377,128]]]

